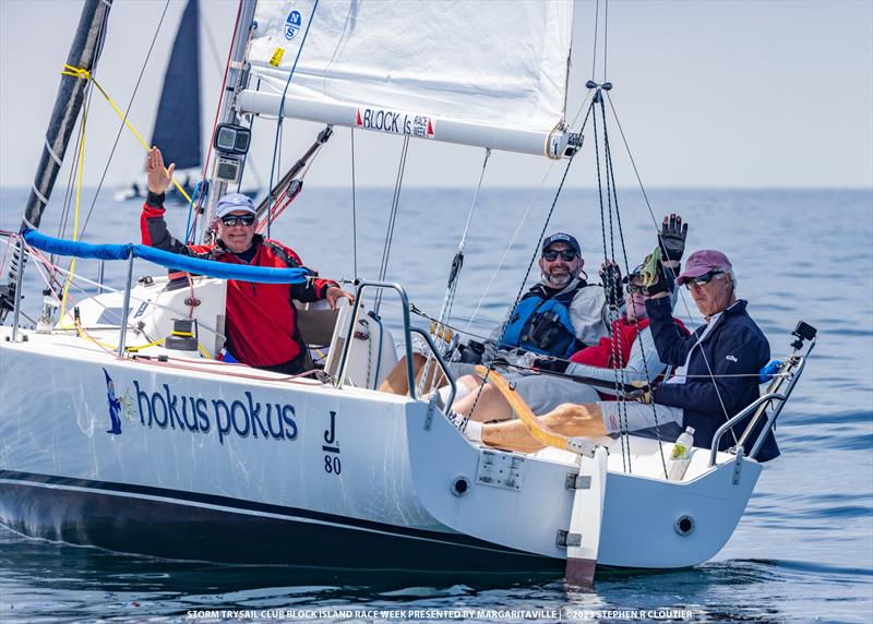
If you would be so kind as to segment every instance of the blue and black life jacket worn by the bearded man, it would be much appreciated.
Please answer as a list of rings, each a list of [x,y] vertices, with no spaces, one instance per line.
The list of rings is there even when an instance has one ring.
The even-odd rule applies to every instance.
[[[525,292],[512,311],[501,340],[502,348],[569,358],[578,348],[576,331],[570,320],[570,305],[579,290],[588,286],[579,279],[572,288],[550,295],[542,284]]]

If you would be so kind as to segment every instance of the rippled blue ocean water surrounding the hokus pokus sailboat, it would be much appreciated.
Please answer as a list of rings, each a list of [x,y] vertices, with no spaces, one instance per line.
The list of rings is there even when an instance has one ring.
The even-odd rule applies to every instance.
[[[482,192],[453,308],[456,326],[487,332],[515,299],[550,193]],[[471,195],[470,189],[407,189],[402,195],[385,277],[403,283],[411,301],[434,315]],[[0,189],[0,228],[17,227],[25,197],[26,191]],[[83,220],[92,197],[84,197]],[[391,197],[390,190],[360,191],[352,228],[349,191],[307,189],[273,237],[324,276],[351,278],[357,269],[375,278]],[[46,214],[43,229],[49,233],[62,220],[61,201],[56,193]],[[619,201],[623,230],[621,237],[617,228],[613,232],[614,255],[621,260],[623,238],[633,265],[655,244],[653,218],[638,192],[620,190]],[[443,620],[471,614],[499,622],[622,621],[641,614],[873,621],[873,193],[658,190],[649,192],[649,201],[658,219],[671,212],[685,217],[690,249],[718,248],[730,255],[740,296],[750,300],[774,357],[788,352],[799,320],[818,328],[817,347],[779,421],[782,456],[766,465],[732,539],[710,562],[674,572],[606,572],[593,590],[579,591],[555,577],[391,576],[175,562],[31,540],[0,528],[0,621],[162,622],[213,610],[217,615],[200,614],[234,620],[220,611],[237,610],[247,613],[236,619],[251,620],[291,609],[300,620],[343,621],[419,619],[411,614],[427,610]],[[99,199],[94,215],[85,240],[139,240],[139,204]],[[172,229],[180,231],[184,219],[183,207],[170,209]],[[593,191],[565,191],[548,229],[578,236],[586,267],[596,273],[605,254]],[[608,229],[606,238],[613,255]],[[148,271],[136,267],[140,274]],[[39,284],[32,265],[27,272],[25,311],[33,315]],[[83,263],[77,273],[94,277],[97,269]],[[115,285],[121,274],[120,266],[107,267]],[[383,312],[396,322],[397,307],[387,296]],[[678,312],[699,323],[686,295]]]

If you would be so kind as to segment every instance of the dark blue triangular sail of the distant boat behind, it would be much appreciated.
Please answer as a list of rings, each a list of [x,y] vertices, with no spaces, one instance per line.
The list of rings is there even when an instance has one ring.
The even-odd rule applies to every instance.
[[[152,134],[165,163],[177,169],[200,167],[200,15],[198,0],[188,0],[172,53]]]

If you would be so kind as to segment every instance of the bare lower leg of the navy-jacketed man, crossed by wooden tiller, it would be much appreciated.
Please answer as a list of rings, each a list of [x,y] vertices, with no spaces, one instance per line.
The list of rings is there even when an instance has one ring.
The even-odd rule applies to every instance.
[[[603,412],[596,403],[584,405],[565,403],[549,413],[538,416],[537,419],[541,425],[563,435],[574,437],[607,435]],[[523,453],[542,448],[542,444],[528,434],[525,424],[519,420],[482,425],[482,442],[489,446]]]

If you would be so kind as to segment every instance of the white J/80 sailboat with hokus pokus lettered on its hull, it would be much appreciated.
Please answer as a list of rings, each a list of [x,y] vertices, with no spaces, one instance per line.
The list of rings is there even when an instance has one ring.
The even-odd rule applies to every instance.
[[[86,1],[71,51],[80,67],[93,65],[108,12]],[[243,0],[223,120],[232,130],[241,115],[291,117],[569,161],[582,145],[565,121],[572,12],[560,0],[464,3],[463,19],[443,3]],[[61,156],[85,88],[63,81],[48,140]],[[411,383],[415,334],[454,381],[434,338],[412,326],[402,285],[359,279],[352,307],[313,314],[304,337],[330,348],[316,377],[217,361],[226,279],[301,275],[48,237],[38,226],[56,166],[40,163],[4,292],[12,322],[0,328],[0,521],[28,536],[220,562],[563,571],[579,585],[600,566],[692,566],[732,535],[763,469],[761,442],[815,341],[799,329],[784,374],[678,481],[661,471],[672,444],[634,435],[626,446],[552,434],[538,453],[489,448]],[[213,203],[231,173],[213,170]],[[61,319],[49,301],[40,331],[25,328],[21,272],[43,252],[125,261],[127,286]],[[189,272],[189,288],[162,268],[134,283],[134,257]],[[400,303],[399,352],[368,314],[376,292]],[[373,389],[400,355],[408,396]],[[751,413],[765,422],[760,441],[719,451]]]

